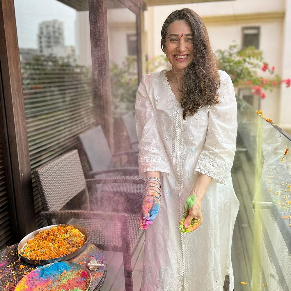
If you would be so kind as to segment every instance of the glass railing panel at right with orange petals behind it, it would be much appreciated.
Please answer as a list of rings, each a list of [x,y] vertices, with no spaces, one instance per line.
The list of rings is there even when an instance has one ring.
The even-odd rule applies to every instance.
[[[245,283],[252,291],[291,290],[291,136],[237,101],[238,136],[251,165],[246,182],[253,190],[253,211],[246,213],[252,217],[252,265]],[[251,238],[245,239],[249,245]]]

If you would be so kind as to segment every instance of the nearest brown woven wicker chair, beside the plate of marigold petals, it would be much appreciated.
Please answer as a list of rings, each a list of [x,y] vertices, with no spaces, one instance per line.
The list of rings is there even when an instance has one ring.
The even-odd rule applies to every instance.
[[[88,189],[94,192],[95,185],[98,183],[108,187],[112,183],[118,183],[119,187],[127,185],[125,191],[128,191],[130,183],[131,193],[136,193],[141,190],[143,179],[132,176],[86,180],[77,150],[72,150],[40,166],[34,171],[34,175],[44,208],[40,217],[47,219],[50,224],[55,224],[58,219],[58,223],[79,225],[88,231],[90,242],[98,248],[122,252],[125,290],[133,291],[131,257],[143,233],[138,227],[139,216],[108,212],[105,209],[106,205],[99,205],[98,211],[92,211]],[[100,193],[94,193],[94,195],[98,194]],[[73,210],[67,210],[68,207],[72,207]],[[111,223],[108,223],[109,221]]]

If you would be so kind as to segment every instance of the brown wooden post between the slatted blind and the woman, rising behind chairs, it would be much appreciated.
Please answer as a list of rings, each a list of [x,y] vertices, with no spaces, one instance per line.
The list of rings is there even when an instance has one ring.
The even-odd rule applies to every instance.
[[[111,116],[107,36],[107,2],[104,0],[88,0],[88,3],[95,94],[101,99],[102,127],[111,151],[113,152],[113,120]]]

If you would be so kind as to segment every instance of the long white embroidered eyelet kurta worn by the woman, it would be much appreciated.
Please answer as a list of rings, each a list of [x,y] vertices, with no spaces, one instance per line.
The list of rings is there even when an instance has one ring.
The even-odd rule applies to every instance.
[[[162,174],[159,213],[145,231],[142,291],[222,291],[234,288],[230,260],[239,202],[230,169],[236,148],[237,106],[230,77],[219,71],[220,103],[183,120],[166,70],[143,77],[136,95],[139,172]],[[198,172],[213,177],[202,200],[203,223],[181,234],[183,207]]]

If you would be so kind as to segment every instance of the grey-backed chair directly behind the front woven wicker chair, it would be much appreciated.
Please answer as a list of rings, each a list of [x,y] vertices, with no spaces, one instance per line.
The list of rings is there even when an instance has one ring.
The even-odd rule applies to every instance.
[[[99,125],[78,136],[81,149],[84,150],[91,172],[87,178],[104,178],[112,176],[138,175],[138,150],[129,150],[111,154],[111,150]],[[127,167],[113,168],[113,158],[127,155],[128,160],[134,158],[133,164]]]

